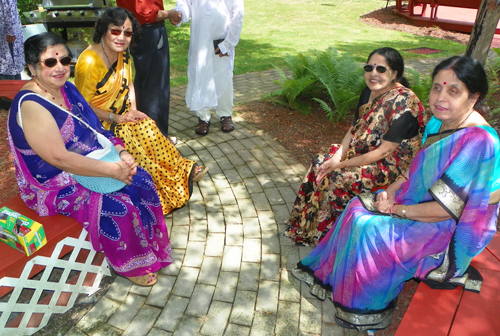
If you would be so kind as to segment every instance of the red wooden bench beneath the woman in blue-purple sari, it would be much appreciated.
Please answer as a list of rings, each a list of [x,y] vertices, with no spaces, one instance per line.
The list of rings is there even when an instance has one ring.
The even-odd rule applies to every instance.
[[[395,336],[500,335],[500,235],[471,263],[484,278],[479,294],[417,288]]]

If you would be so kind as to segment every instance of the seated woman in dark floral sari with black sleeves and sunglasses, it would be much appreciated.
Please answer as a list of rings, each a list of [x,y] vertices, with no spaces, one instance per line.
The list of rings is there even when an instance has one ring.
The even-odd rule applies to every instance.
[[[405,87],[404,61],[379,48],[364,66],[367,87],[342,143],[317,155],[299,189],[285,235],[315,246],[356,195],[385,187],[410,166],[428,115]]]

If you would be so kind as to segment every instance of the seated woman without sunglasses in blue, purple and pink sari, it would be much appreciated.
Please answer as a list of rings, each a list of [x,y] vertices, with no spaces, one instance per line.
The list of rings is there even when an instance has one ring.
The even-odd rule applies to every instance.
[[[389,326],[413,277],[435,288],[480,289],[470,262],[496,231],[500,200],[500,141],[482,116],[487,78],[479,62],[458,56],[432,78],[434,116],[408,172],[386,191],[353,199],[292,270],[313,295],[331,294],[345,328]]]

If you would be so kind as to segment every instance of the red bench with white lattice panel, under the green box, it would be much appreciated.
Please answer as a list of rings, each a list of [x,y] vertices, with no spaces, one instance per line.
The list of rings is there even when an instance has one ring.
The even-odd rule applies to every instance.
[[[29,257],[0,243],[1,334],[31,335],[52,314],[72,308],[79,294],[95,293],[102,277],[111,274],[104,255],[92,249],[76,220],[63,215],[40,217],[19,196],[3,206],[42,223],[47,236],[47,244]],[[67,260],[61,259],[71,251]],[[42,270],[42,276],[34,278]],[[54,270],[57,280],[49,279]]]

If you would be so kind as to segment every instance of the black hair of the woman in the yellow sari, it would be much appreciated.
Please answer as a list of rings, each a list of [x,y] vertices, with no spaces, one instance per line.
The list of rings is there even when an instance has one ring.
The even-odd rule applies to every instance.
[[[127,19],[132,22],[132,31],[134,32],[131,44],[136,45],[141,39],[141,25],[130,11],[121,7],[110,7],[99,16],[94,26],[92,41],[94,41],[94,43],[99,43],[101,38],[108,32],[110,24],[121,26]]]

